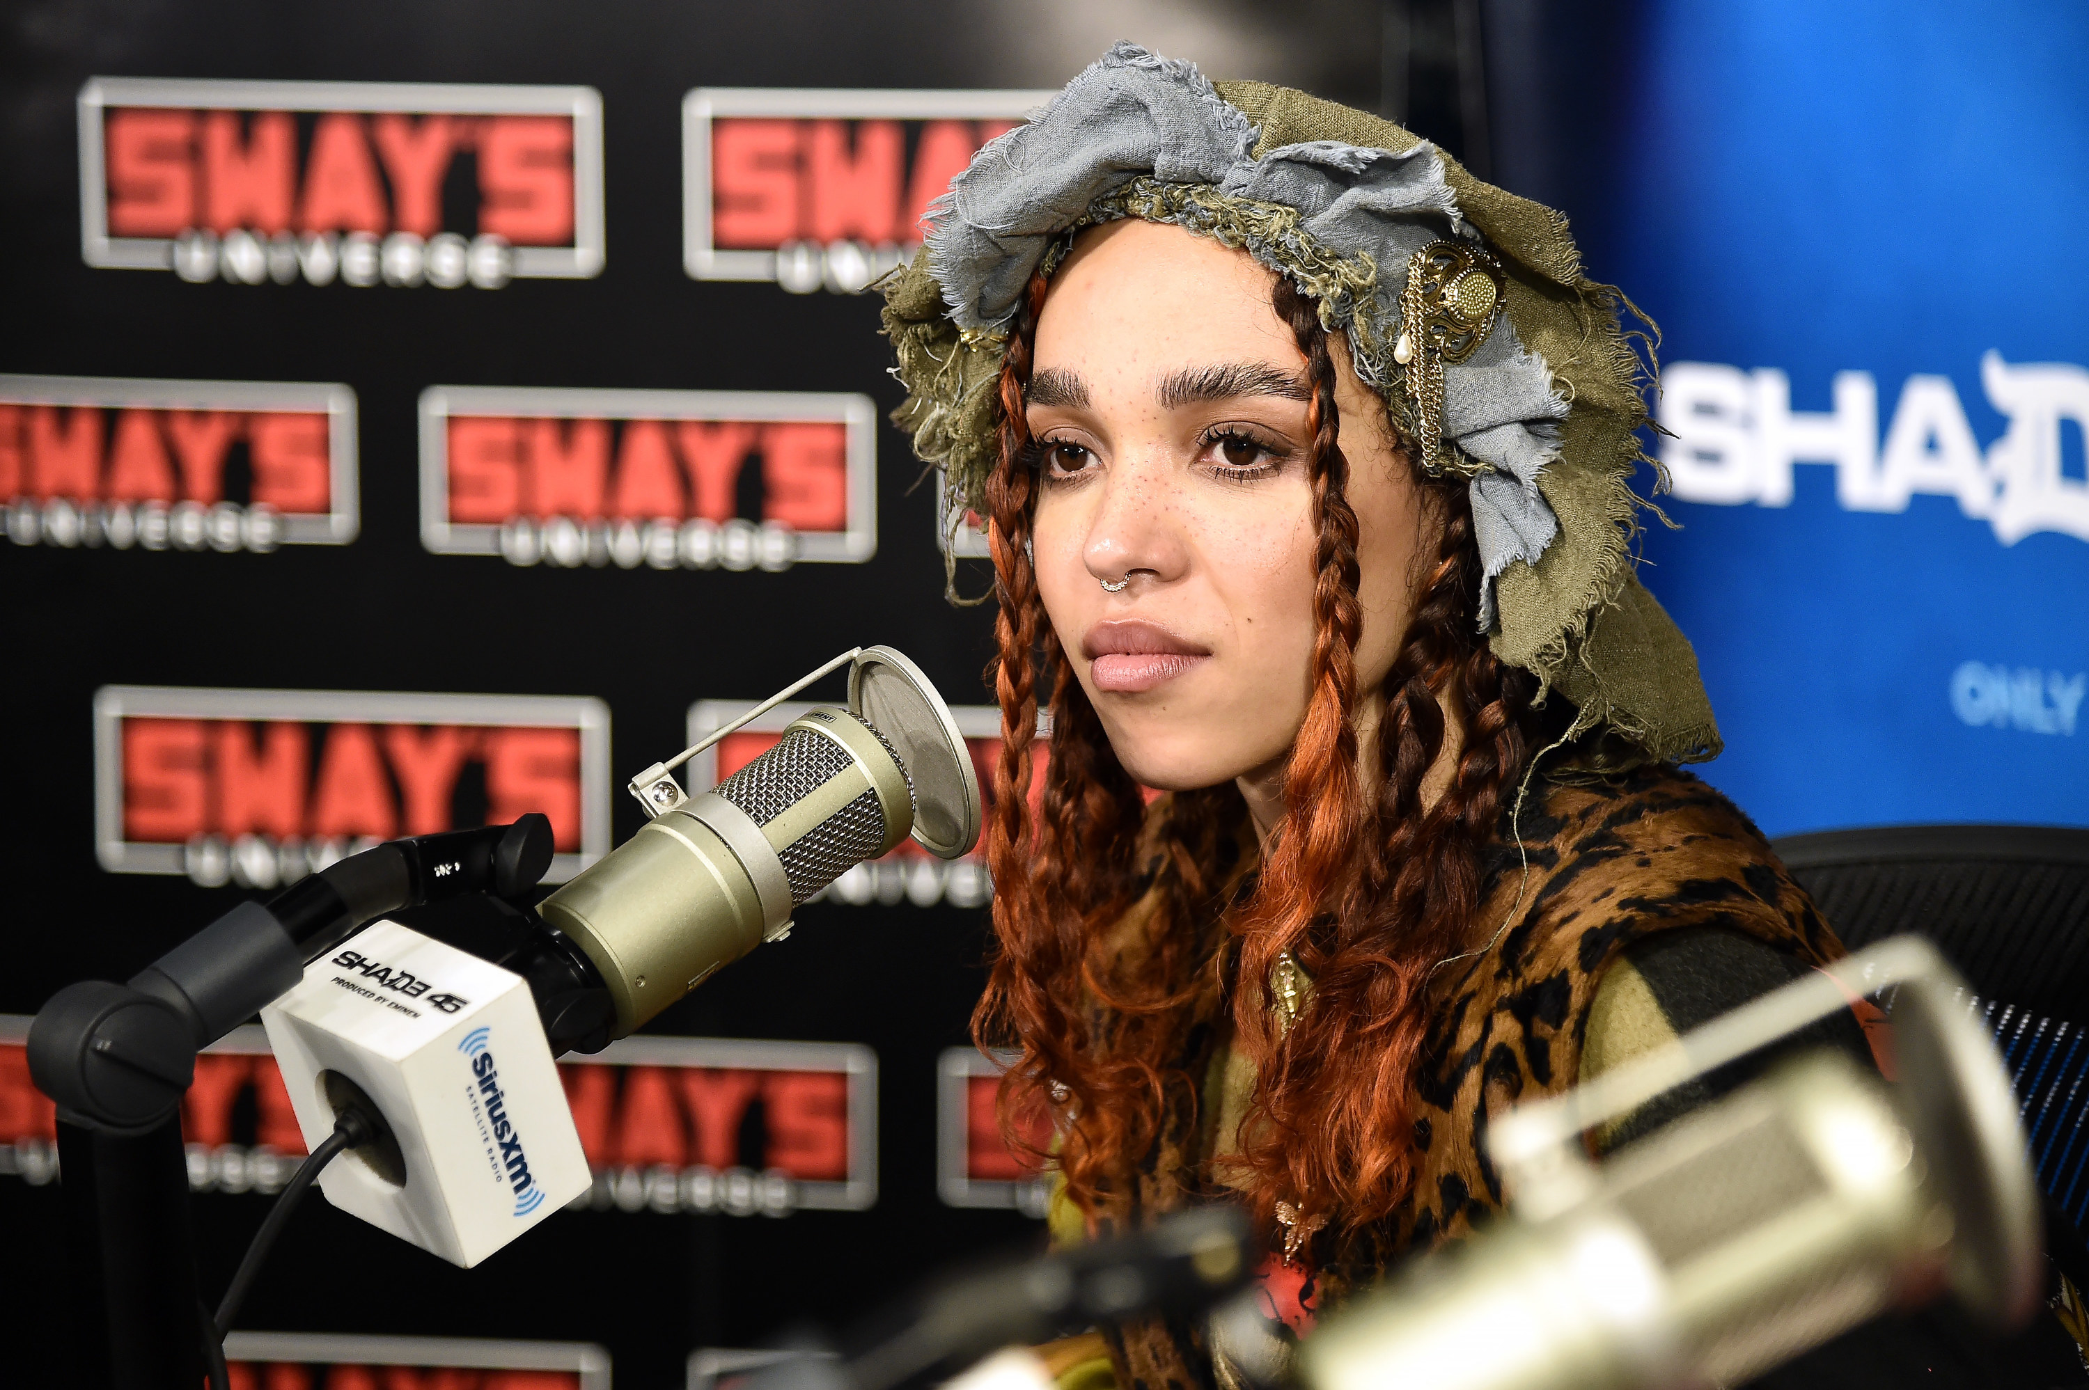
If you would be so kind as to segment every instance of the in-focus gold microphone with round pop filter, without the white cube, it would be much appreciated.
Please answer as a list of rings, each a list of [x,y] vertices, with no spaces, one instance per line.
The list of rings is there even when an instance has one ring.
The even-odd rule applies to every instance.
[[[848,664],[848,708],[794,720],[773,749],[689,797],[673,768]],[[980,783],[948,705],[890,647],[844,651],[631,781],[652,820],[537,910],[602,973],[625,1035],[712,970],[783,937],[792,912],[902,839],[955,860],[980,837]]]

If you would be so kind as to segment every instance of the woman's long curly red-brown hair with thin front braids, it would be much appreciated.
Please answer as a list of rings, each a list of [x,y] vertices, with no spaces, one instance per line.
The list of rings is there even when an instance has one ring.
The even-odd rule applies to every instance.
[[[973,1037],[1015,1050],[1003,1117],[1051,1112],[1065,1192],[1095,1213],[1130,1183],[1170,1108],[1195,1106],[1197,1079],[1182,1069],[1189,1006],[1228,1002],[1235,1046],[1258,1069],[1241,1127],[1251,1204],[1268,1221],[1278,1200],[1304,1202],[1329,1215],[1329,1236],[1341,1240],[1393,1215],[1412,1185],[1408,1098],[1427,1031],[1425,985],[1437,960],[1475,943],[1481,854],[1531,747],[1535,680],[1477,637],[1479,555],[1464,484],[1416,474],[1441,532],[1385,676],[1377,766],[1360,774],[1358,522],[1335,363],[1316,305],[1278,278],[1274,309],[1312,386],[1312,682],[1289,758],[1287,818],[1253,895],[1228,914],[1230,931],[1218,931],[1218,893],[1245,829],[1239,793],[1174,793],[1149,812],[1038,597],[1024,390],[1044,292],[1034,278],[1011,334],[1001,457],[986,484],[999,597],[988,678],[1001,701],[986,854],[999,952]],[[1051,760],[1032,810],[1040,685],[1051,691]],[[1464,743],[1448,791],[1427,804],[1423,781],[1452,718]],[[1147,816],[1155,824],[1141,864]],[[1111,929],[1147,891],[1149,927],[1124,941]],[[1314,1002],[1283,1035],[1268,981],[1287,952],[1312,977]]]

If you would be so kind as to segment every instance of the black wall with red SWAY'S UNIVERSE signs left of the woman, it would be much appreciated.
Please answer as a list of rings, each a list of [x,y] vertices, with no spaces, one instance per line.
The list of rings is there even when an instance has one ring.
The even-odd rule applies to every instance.
[[[543,810],[564,881],[639,824],[635,768],[850,645],[999,726],[856,290],[1034,98],[928,8],[777,19],[6,21],[0,1382],[96,1336],[21,1050],[61,983],[389,835]],[[946,1075],[986,891],[896,854],[572,1060],[595,1188],[470,1273],[311,1202],[236,1384],[681,1386],[1034,1244],[1032,1177]],[[184,1131],[215,1296],[303,1150],[259,1031],[201,1058]]]

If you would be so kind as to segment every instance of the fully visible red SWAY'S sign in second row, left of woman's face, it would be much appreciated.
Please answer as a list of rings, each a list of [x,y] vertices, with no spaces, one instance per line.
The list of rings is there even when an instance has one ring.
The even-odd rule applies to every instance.
[[[788,570],[877,551],[869,397],[430,386],[420,534],[518,566]]]

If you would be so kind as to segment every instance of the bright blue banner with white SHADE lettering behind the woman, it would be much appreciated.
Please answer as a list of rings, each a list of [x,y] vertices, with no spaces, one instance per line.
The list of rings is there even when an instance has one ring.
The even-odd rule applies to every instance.
[[[1705,774],[1771,835],[2089,824],[2089,10],[1644,15],[1588,253],[1665,334]]]

